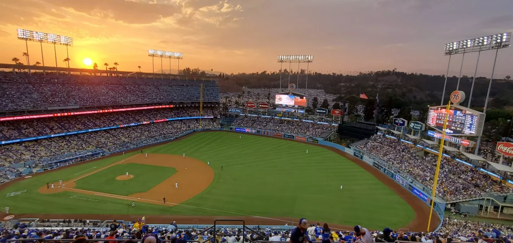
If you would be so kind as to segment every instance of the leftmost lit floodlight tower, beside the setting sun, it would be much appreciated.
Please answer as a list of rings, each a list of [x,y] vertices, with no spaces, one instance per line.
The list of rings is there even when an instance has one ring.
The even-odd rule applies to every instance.
[[[67,54],[67,62],[68,62],[68,75],[71,75],[69,72],[69,51],[68,46],[73,46],[73,37],[64,36],[64,35],[57,35],[57,34],[48,34],[43,32],[37,32],[32,30],[24,30],[24,29],[17,29],[18,32],[18,39],[25,40],[25,47],[27,48],[27,65],[30,66],[30,59],[29,59],[29,47],[27,42],[30,40],[31,42],[39,42],[41,44],[41,58],[43,60],[43,74],[46,74],[45,72],[45,58],[43,56],[43,43],[49,43],[53,44],[53,51],[55,53],[55,67],[58,67],[57,65],[57,51],[55,48],[55,45],[63,45],[66,46],[66,54]],[[29,74],[31,73],[29,68]],[[58,71],[57,71],[58,76]]]

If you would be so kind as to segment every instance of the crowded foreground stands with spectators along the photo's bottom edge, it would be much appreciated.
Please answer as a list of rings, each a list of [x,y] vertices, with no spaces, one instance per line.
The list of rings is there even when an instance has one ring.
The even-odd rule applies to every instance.
[[[61,222],[62,221],[62,222]],[[206,230],[195,229],[177,225],[172,222],[170,225],[146,225],[140,220],[137,222],[107,222],[106,224],[98,224],[98,220],[86,219],[64,219],[64,220],[40,220],[37,222],[17,223],[11,229],[0,229],[4,232],[0,237],[0,242],[8,239],[31,239],[44,238],[50,242],[58,242],[58,240],[75,239],[73,242],[82,243],[85,239],[102,241],[101,239],[118,239],[125,242],[134,242],[132,239],[143,239],[143,243],[155,242],[156,238],[161,240],[208,240],[213,238],[211,242],[215,243],[233,243],[233,242],[254,242],[256,240],[265,241],[284,241],[289,242],[293,228],[276,227],[279,229],[260,228],[260,226],[250,226],[243,228],[242,226],[223,227]],[[52,223],[53,222],[53,223]],[[321,224],[322,225],[322,224]],[[32,228],[33,226],[39,229]],[[52,228],[53,229],[48,229]],[[71,228],[83,227],[83,228]],[[324,241],[321,234],[315,238],[315,228],[320,227],[307,225],[305,231],[309,240]],[[42,229],[43,228],[43,229]],[[47,229],[45,229],[47,228]],[[331,230],[327,224],[324,224],[323,231],[329,232],[324,237],[329,237],[329,242],[359,242],[357,234],[354,231],[338,231]],[[357,227],[355,227],[357,228]],[[366,230],[362,226],[362,230]],[[368,231],[368,230],[367,230]],[[513,240],[513,228],[509,225],[499,225],[487,221],[470,221],[466,219],[458,219],[456,217],[446,217],[442,222],[442,227],[437,232],[403,232],[385,228],[382,231],[369,231],[373,242],[394,242],[396,240],[411,242],[427,242],[427,243],[450,243],[452,241],[462,242],[480,242],[480,243],[511,243]],[[155,239],[152,239],[152,237]],[[151,240],[148,240],[149,239]],[[81,241],[81,239],[83,239]],[[22,241],[19,241],[22,242]],[[31,242],[31,241],[27,241]],[[184,241],[185,242],[185,241]],[[295,241],[294,241],[295,242]],[[325,242],[328,242],[326,240]],[[362,242],[365,242],[362,240]],[[370,242],[370,241],[369,241]]]

